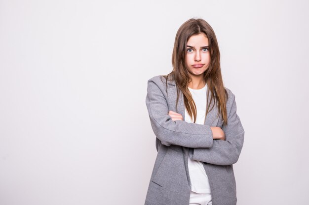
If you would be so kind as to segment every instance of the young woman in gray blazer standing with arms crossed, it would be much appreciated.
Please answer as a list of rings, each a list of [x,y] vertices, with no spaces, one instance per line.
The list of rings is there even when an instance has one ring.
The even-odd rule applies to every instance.
[[[172,64],[171,73],[148,80],[157,157],[145,205],[236,205],[232,165],[244,129],[206,21],[190,19],[179,28]]]

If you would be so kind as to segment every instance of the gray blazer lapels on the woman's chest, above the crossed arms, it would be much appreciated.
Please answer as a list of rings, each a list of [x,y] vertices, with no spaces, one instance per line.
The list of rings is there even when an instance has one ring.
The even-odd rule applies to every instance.
[[[164,82],[165,83],[165,82]],[[177,88],[176,88],[176,83],[175,81],[169,81],[168,83],[168,87],[167,87],[167,95],[168,95],[168,106],[169,109],[176,112],[176,99],[177,99]],[[208,85],[206,86],[206,93],[207,94],[209,88]],[[183,97],[183,93],[181,92],[181,90],[179,90],[179,100],[178,100],[178,106],[177,106],[177,111],[179,114],[181,114],[183,116],[184,121],[185,119],[185,103],[184,103],[184,97]],[[210,95],[210,93],[209,93]],[[209,103],[210,101],[210,97],[207,97],[207,101]],[[214,100],[212,101],[210,108],[212,108],[214,104]],[[205,121],[204,121],[204,125],[208,125],[208,126],[216,126],[218,124],[219,117],[217,117],[218,113],[218,107],[215,105],[213,107],[213,109],[208,112],[207,116],[205,117]]]

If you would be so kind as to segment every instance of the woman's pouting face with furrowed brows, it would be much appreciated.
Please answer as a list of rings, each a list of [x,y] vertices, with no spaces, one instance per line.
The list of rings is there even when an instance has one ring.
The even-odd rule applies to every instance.
[[[186,66],[193,79],[202,78],[210,65],[208,38],[204,33],[193,35],[187,42]]]

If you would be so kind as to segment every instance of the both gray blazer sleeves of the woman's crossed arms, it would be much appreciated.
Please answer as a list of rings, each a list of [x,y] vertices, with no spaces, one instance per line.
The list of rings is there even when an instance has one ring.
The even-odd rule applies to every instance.
[[[155,77],[148,80],[146,106],[155,136],[165,146],[193,148],[194,160],[216,165],[237,162],[244,141],[244,129],[236,114],[235,95],[229,90],[228,124],[223,125],[226,140],[214,140],[208,125],[175,120],[168,115],[165,86]]]

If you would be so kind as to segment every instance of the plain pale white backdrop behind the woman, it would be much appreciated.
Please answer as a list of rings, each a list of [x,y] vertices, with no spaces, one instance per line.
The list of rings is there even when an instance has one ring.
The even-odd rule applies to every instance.
[[[237,205],[307,205],[309,1],[0,0],[0,205],[143,205],[147,80],[214,29],[245,130]]]

